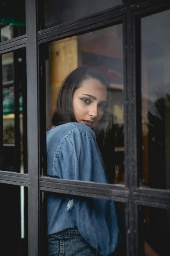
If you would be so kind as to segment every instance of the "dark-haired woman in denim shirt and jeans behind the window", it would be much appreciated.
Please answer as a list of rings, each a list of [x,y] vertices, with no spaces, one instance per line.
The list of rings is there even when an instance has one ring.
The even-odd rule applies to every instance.
[[[96,143],[105,145],[111,117],[110,84],[97,68],[82,66],[63,81],[47,132],[50,177],[108,183]],[[78,196],[48,197],[49,256],[111,255],[124,237],[124,214],[113,201]],[[122,254],[121,254],[122,255]]]

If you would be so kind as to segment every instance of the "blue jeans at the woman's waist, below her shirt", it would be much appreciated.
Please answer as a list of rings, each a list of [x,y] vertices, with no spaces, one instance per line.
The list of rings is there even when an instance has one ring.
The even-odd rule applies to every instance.
[[[65,230],[48,236],[48,256],[100,256],[79,231]]]

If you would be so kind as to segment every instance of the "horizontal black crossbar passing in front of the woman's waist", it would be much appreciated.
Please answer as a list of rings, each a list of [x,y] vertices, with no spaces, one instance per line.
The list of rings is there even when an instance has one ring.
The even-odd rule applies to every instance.
[[[39,188],[42,191],[96,197],[120,202],[126,202],[129,196],[127,190],[116,189],[115,186],[113,188],[113,186],[109,184],[61,180],[49,177],[41,177],[39,179]]]

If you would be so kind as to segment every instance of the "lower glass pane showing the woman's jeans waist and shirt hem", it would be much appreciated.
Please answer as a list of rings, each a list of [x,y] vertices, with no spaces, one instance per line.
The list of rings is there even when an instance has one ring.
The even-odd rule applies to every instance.
[[[48,193],[43,209],[45,255],[125,255],[125,203]]]

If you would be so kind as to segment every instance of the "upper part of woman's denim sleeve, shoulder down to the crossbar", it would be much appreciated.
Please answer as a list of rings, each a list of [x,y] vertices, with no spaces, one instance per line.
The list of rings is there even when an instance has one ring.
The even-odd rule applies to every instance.
[[[54,158],[54,176],[107,183],[96,141],[85,131],[70,131],[61,141]]]

